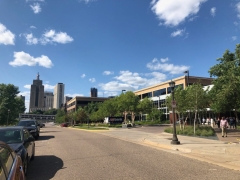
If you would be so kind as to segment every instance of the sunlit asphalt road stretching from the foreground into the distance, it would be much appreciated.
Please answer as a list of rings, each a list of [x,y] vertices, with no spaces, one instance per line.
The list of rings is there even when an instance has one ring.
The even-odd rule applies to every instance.
[[[41,130],[27,180],[240,179],[239,171],[94,132],[49,125]]]

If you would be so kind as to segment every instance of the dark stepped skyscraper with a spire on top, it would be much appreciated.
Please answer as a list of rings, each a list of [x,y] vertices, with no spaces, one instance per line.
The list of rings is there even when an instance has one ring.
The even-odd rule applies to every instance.
[[[30,91],[30,103],[29,112],[36,110],[44,110],[44,86],[42,80],[39,79],[39,73],[37,79],[33,80]]]

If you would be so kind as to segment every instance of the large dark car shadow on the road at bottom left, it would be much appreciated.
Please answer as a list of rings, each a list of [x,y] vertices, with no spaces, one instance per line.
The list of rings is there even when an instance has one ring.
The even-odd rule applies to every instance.
[[[28,167],[27,180],[49,180],[63,169],[62,159],[56,156],[35,156]]]

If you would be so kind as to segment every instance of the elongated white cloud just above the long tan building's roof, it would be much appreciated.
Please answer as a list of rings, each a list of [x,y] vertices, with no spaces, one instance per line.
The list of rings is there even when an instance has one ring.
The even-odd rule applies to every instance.
[[[160,61],[156,61],[156,58],[154,58],[152,62],[147,64],[147,68],[155,71],[160,70],[163,72],[169,72],[170,74],[182,74],[184,71],[189,69],[189,66],[161,63]]]

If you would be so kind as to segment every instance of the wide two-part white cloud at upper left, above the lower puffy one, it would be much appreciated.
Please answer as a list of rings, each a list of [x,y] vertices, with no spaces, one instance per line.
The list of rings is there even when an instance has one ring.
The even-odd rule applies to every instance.
[[[41,38],[36,38],[32,33],[24,34],[27,44],[38,44],[41,43],[43,45],[52,44],[52,43],[60,43],[66,44],[73,41],[73,38],[69,36],[66,32],[55,32],[55,30],[46,31]]]

